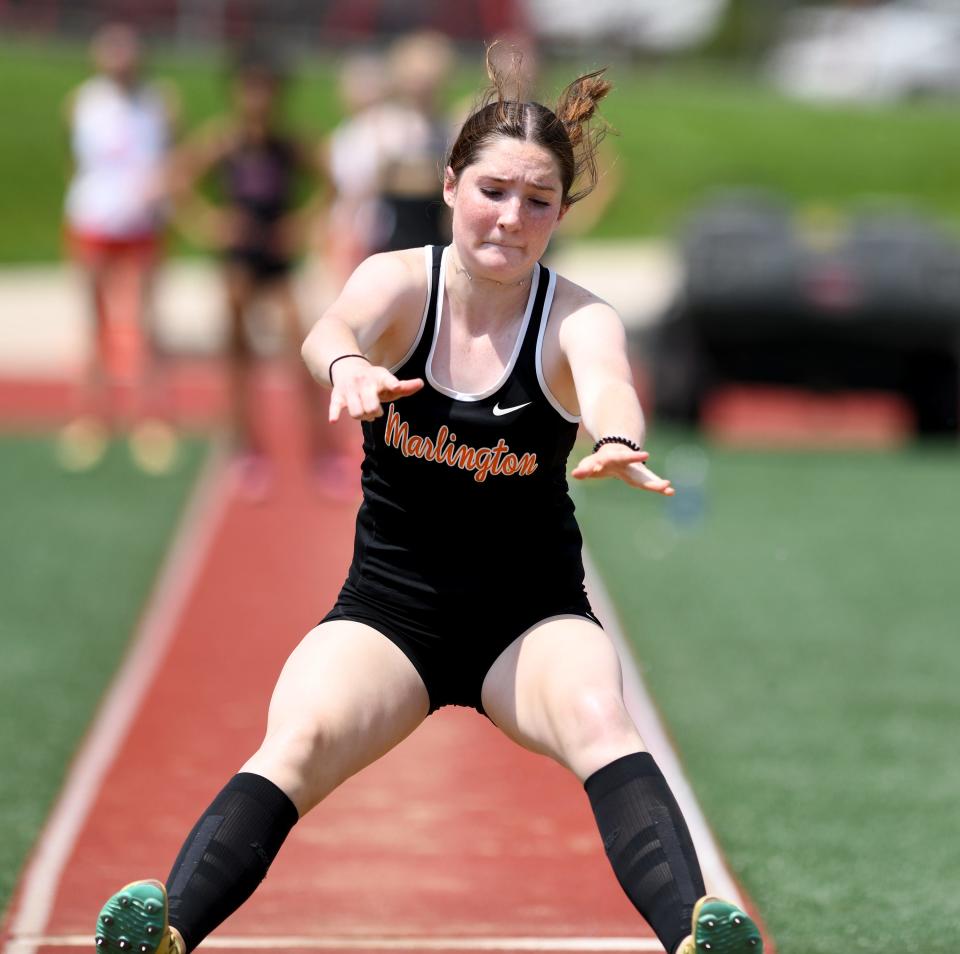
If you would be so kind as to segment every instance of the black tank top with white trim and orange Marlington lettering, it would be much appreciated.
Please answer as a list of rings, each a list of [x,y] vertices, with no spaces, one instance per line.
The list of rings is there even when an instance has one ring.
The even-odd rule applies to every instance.
[[[583,592],[582,539],[566,463],[578,419],[550,394],[540,362],[556,277],[535,266],[501,380],[482,394],[459,394],[430,372],[448,251],[428,246],[425,258],[420,331],[392,369],[425,385],[363,424],[350,582],[414,605],[574,599]]]

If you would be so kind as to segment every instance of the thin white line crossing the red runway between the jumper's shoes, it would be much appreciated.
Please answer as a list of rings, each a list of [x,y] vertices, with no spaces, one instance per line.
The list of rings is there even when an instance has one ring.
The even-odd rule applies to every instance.
[[[35,947],[92,945],[85,934],[35,937],[29,942]],[[203,946],[231,950],[663,952],[660,942],[651,937],[218,937],[214,934]]]

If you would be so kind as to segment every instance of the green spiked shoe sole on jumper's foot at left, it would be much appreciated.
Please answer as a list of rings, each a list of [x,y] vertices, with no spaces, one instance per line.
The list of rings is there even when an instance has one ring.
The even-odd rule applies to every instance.
[[[111,954],[183,954],[167,920],[167,889],[159,881],[121,888],[100,911],[96,945]]]

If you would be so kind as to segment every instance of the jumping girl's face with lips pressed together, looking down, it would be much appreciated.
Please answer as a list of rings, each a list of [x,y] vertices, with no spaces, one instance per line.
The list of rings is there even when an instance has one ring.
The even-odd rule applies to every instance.
[[[560,167],[543,146],[498,138],[454,178],[443,197],[453,209],[453,242],[474,277],[510,282],[543,256],[566,212]]]

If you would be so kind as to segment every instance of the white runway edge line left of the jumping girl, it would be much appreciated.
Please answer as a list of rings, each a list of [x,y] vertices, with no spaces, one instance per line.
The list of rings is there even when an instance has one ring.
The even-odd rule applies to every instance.
[[[16,938],[39,936],[47,927],[63,869],[100,792],[103,778],[163,661],[176,621],[220,525],[229,498],[223,486],[224,473],[223,452],[214,448],[184,508],[123,664],[70,766],[26,867],[10,922],[14,943]],[[18,954],[30,954],[33,950],[30,943],[24,941],[17,945]],[[5,950],[13,950],[12,944],[8,942]]]

